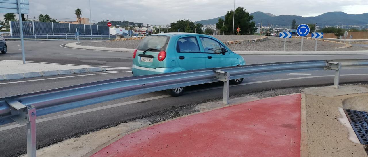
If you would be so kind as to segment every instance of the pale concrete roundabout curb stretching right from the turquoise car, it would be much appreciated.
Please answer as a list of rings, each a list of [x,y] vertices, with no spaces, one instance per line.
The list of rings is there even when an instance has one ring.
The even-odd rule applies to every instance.
[[[234,51],[239,55],[366,55],[363,51]]]

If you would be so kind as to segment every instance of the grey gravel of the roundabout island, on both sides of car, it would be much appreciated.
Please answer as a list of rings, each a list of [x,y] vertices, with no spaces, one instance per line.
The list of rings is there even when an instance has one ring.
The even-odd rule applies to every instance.
[[[251,35],[216,35],[213,36],[220,41],[236,41],[256,39],[260,36]],[[80,45],[95,46],[95,47],[112,47],[112,48],[137,48],[141,40],[126,40],[126,41],[99,41],[99,42],[84,42]],[[288,38],[286,39],[286,51],[300,51],[301,39]],[[317,51],[357,51],[368,50],[368,47],[353,46],[348,48],[337,49],[344,44],[333,43],[329,41],[318,41]],[[227,45],[232,51],[284,51],[284,39],[279,37],[268,37],[266,41],[255,43],[243,43]],[[314,51],[315,40],[304,39],[303,51]]]

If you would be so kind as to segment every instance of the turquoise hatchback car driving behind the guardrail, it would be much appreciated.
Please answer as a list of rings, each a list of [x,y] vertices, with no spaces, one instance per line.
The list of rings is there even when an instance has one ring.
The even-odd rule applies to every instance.
[[[145,37],[133,53],[134,76],[180,72],[184,70],[245,65],[243,57],[216,38],[196,33],[160,33]],[[243,78],[231,80],[240,84]],[[172,96],[185,87],[167,90]]]

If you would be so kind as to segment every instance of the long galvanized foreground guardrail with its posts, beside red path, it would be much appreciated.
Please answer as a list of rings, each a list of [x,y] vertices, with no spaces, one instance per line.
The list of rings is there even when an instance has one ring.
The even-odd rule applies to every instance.
[[[368,59],[268,63],[97,81],[0,98],[0,125],[14,121],[21,125],[27,124],[28,156],[35,156],[36,116],[138,94],[217,81],[224,82],[223,103],[227,104],[229,81],[232,79],[307,70],[335,70],[334,86],[338,88],[340,69],[351,67],[368,67]]]

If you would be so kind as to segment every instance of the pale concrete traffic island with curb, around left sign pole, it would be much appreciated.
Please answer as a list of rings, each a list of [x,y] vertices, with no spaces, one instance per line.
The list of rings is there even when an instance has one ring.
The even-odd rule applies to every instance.
[[[106,71],[102,67],[30,62],[23,64],[22,61],[18,60],[0,61],[0,65],[0,80]]]

